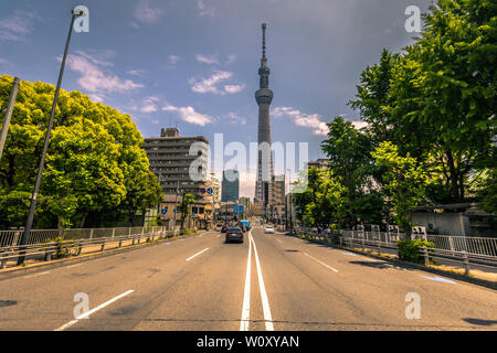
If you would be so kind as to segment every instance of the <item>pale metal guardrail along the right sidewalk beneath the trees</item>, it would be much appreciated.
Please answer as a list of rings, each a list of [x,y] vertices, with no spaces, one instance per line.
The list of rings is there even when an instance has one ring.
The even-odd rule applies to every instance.
[[[396,242],[399,234],[380,232],[357,232],[357,231],[331,231],[327,234],[316,232],[297,231],[297,236],[307,236],[310,240],[324,244],[339,244],[345,247],[360,247],[377,249],[380,254],[382,249],[399,250]],[[427,240],[435,247],[423,247],[420,256],[424,258],[425,265],[431,259],[445,259],[462,263],[465,272],[468,274],[470,265],[497,267],[497,238],[483,237],[453,237],[442,235],[429,235]]]

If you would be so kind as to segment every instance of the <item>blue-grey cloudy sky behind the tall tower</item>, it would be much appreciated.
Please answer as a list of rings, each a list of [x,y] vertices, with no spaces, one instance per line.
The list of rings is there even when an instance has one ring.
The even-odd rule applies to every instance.
[[[73,33],[62,87],[127,113],[144,137],[257,140],[261,23],[267,23],[273,141],[309,143],[322,157],[326,122],[342,115],[361,71],[383,47],[412,43],[404,13],[430,0],[17,0],[0,2],[0,73],[56,83],[70,11],[89,9]],[[252,182],[241,193],[253,196]]]

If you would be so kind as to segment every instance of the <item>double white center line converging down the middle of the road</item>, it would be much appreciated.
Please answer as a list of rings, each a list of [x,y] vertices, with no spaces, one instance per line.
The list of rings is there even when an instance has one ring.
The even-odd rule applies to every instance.
[[[250,314],[251,314],[251,261],[252,261],[252,247],[254,247],[255,266],[257,268],[258,288],[261,290],[261,301],[263,306],[264,321],[266,331],[274,331],[273,317],[271,314],[269,300],[267,299],[266,287],[264,285],[264,278],[261,270],[261,261],[258,260],[257,247],[252,238],[252,232],[248,233],[248,259],[246,263],[245,275],[245,290],[243,296],[242,319],[240,322],[240,331],[248,331]]]

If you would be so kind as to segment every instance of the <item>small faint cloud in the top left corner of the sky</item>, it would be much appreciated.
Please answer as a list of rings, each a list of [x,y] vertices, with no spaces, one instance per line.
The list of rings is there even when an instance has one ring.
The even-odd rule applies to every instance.
[[[33,30],[38,13],[33,11],[15,10],[7,19],[0,20],[0,41],[25,41]]]

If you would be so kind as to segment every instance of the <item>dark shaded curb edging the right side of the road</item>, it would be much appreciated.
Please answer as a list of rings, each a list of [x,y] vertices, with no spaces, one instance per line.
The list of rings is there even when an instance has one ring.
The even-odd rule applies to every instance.
[[[497,290],[497,282],[494,282],[494,281],[489,281],[489,280],[485,280],[485,279],[480,279],[480,278],[475,278],[475,277],[468,277],[468,276],[461,275],[461,274],[454,274],[454,272],[450,272],[450,271],[444,271],[442,269],[425,267],[423,265],[419,265],[419,264],[414,264],[414,263],[408,263],[408,261],[404,261],[404,260],[385,258],[385,257],[381,257],[381,256],[378,256],[378,255],[372,255],[372,254],[368,254],[368,253],[358,252],[358,250],[355,250],[355,249],[351,249],[351,248],[348,248],[348,247],[343,247],[343,246],[340,246],[340,245],[335,245],[335,244],[334,245],[329,245],[329,244],[326,244],[326,243],[318,243],[318,242],[313,242],[313,240],[309,240],[309,239],[305,239],[305,240],[307,240],[309,243],[314,243],[314,244],[326,245],[326,246],[329,246],[329,247],[332,247],[332,248],[336,248],[336,249],[343,249],[343,250],[347,250],[347,252],[350,252],[350,253],[355,253],[355,254],[358,254],[358,255],[362,255],[362,256],[369,256],[369,257],[372,257],[372,258],[376,258],[376,259],[379,259],[379,260],[383,260],[383,261],[388,261],[388,263],[392,263],[392,264],[395,264],[395,265],[402,265],[403,267],[406,267],[406,268],[419,269],[419,270],[422,270],[422,271],[425,271],[425,272],[441,275],[441,276],[450,277],[452,279],[457,279],[457,280],[461,280],[461,281],[464,281],[464,282],[468,282],[468,284],[472,284],[472,285],[482,286],[482,287],[486,287],[488,289]]]

